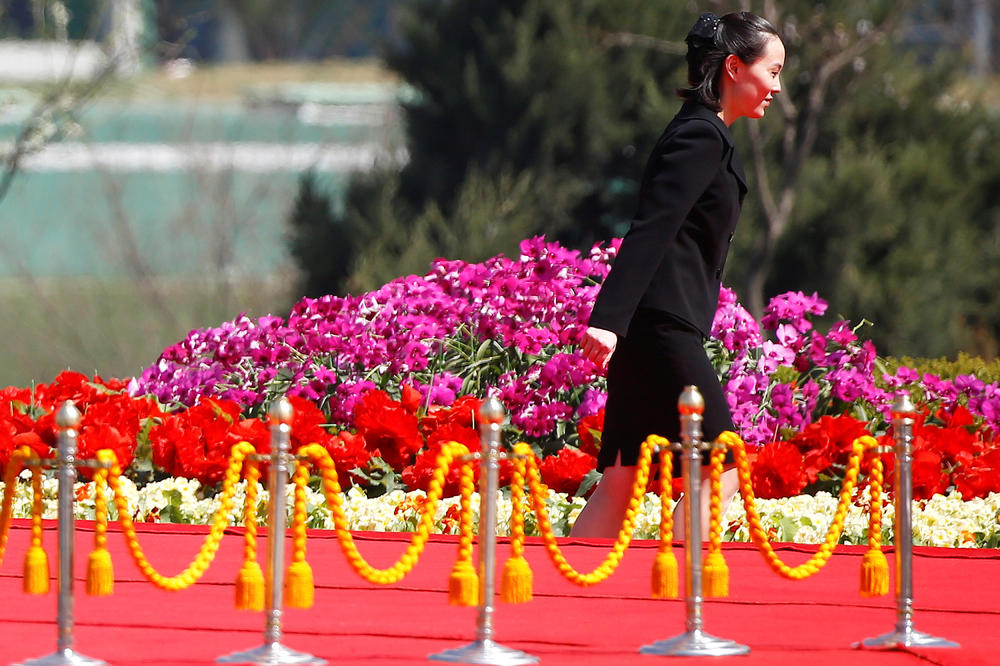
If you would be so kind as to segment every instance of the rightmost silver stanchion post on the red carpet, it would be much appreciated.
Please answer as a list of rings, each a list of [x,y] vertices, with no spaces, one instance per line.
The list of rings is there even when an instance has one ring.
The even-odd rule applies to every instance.
[[[960,647],[958,643],[917,631],[913,627],[913,415],[916,409],[906,394],[892,405],[892,426],[896,438],[896,628],[889,633],[866,638],[870,648]]]

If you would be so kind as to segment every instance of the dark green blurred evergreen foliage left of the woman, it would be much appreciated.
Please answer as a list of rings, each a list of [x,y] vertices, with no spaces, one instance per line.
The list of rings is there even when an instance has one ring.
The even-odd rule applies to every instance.
[[[439,256],[509,254],[533,235],[586,246],[624,233],[643,160],[676,111],[679,40],[699,7],[415,0],[408,9],[385,59],[417,92],[404,110],[409,162],[348,189],[343,221],[359,239],[348,289],[422,273]],[[678,41],[636,46],[636,33]]]

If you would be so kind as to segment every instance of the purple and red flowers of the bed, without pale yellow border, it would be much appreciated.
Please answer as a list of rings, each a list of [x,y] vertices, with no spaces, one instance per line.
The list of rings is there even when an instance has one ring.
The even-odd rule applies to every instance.
[[[0,464],[20,445],[51,456],[54,412],[73,400],[83,414],[81,457],[111,448],[140,491],[196,481],[209,501],[233,444],[268,450],[263,416],[288,396],[293,448],[320,443],[354,496],[378,500],[426,490],[442,443],[477,450],[476,418],[489,395],[509,414],[505,441],[526,441],[541,458],[543,482],[585,496],[597,478],[606,394],[602,372],[576,343],[616,248],[581,254],[534,238],[516,258],[438,260],[426,275],[373,292],[302,299],[287,318],[241,315],[192,331],[127,381],[65,372],[50,384],[8,387]],[[902,392],[919,409],[915,497],[1000,492],[997,384],[886,372],[861,337],[866,323],[834,320],[821,331],[825,312],[815,294],[790,292],[757,322],[732,291],[720,294],[706,349],[749,445],[757,496],[836,492],[857,436],[891,438],[889,412]],[[453,472],[446,494],[456,489]],[[983,530],[979,541],[991,543]]]

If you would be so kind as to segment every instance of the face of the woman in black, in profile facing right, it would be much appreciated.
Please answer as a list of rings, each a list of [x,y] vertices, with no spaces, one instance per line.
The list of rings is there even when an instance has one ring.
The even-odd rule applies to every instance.
[[[781,68],[785,65],[785,46],[778,37],[771,35],[764,53],[753,63],[747,64],[738,56],[726,58],[726,100],[731,118],[747,116],[762,118],[771,100],[781,92]]]

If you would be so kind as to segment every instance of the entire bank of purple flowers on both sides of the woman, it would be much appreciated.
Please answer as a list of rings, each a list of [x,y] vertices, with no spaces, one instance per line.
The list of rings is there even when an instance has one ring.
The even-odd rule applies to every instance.
[[[532,238],[513,259],[438,260],[426,275],[376,291],[303,299],[287,319],[240,315],[192,331],[130,389],[168,406],[228,398],[250,413],[277,395],[297,395],[350,427],[365,391],[409,384],[428,406],[494,395],[519,436],[570,441],[575,422],[606,399],[601,371],[576,343],[619,243],[582,255]],[[706,349],[748,443],[848,410],[874,432],[903,390],[935,408],[965,404],[997,430],[996,384],[972,376],[942,381],[905,367],[885,375],[874,345],[859,339],[860,325],[839,320],[826,334],[816,329],[813,318],[826,307],[816,294],[789,292],[773,298],[758,323],[723,288]]]

